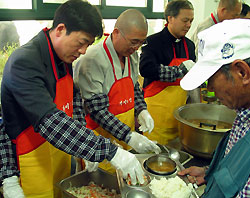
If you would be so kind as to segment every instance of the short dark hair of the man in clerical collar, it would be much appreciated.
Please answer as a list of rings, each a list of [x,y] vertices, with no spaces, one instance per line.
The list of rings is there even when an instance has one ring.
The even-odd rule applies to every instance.
[[[176,17],[181,9],[190,9],[194,10],[194,7],[191,2],[187,0],[173,0],[170,1],[164,11],[164,16],[166,21],[168,21],[168,16]]]

